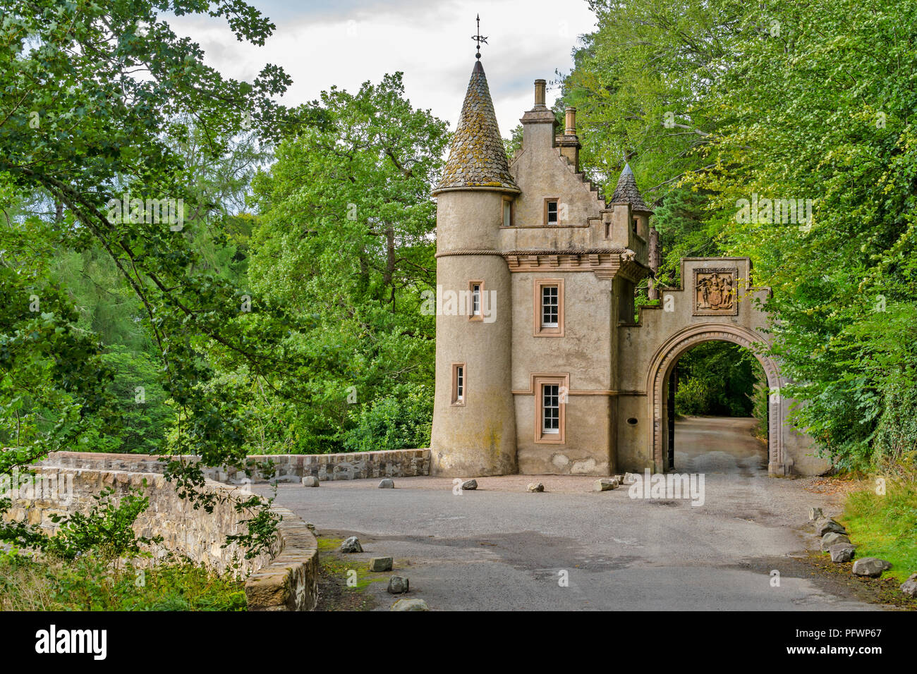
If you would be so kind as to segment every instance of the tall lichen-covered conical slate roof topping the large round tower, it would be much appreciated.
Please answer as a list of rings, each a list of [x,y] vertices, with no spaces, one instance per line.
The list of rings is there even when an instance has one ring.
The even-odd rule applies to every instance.
[[[471,72],[443,178],[433,193],[463,187],[495,187],[519,192],[510,175],[481,61],[475,62]]]

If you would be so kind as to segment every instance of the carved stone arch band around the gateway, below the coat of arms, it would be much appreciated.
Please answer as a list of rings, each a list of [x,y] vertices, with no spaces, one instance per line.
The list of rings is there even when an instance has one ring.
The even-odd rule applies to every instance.
[[[756,344],[766,343],[763,336],[746,327],[728,323],[701,323],[679,330],[663,342],[650,361],[646,392],[649,393],[649,412],[653,420],[651,447],[653,448],[654,465],[657,470],[668,468],[663,447],[663,424],[666,421],[663,414],[663,393],[668,373],[681,354],[702,342],[709,341],[732,342],[747,348],[764,368],[765,376],[768,378],[768,387],[771,392],[776,392],[771,394],[768,403],[768,473],[784,475],[786,471],[783,457],[783,404],[779,395],[783,380],[780,377],[779,368],[773,359],[755,348]]]

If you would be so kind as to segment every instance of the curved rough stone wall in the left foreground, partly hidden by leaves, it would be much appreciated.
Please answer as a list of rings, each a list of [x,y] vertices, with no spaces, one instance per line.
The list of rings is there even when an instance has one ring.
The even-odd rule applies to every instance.
[[[226,536],[246,532],[244,520],[251,513],[238,513],[234,501],[249,498],[250,492],[207,480],[204,489],[215,492],[219,497],[213,512],[207,513],[203,509],[194,509],[191,503],[182,499],[171,482],[161,474],[142,470],[151,463],[149,459],[145,462],[130,455],[66,454],[71,455],[66,457],[68,463],[80,463],[84,467],[37,467],[36,479],[31,486],[20,487],[13,494],[16,498],[5,515],[7,519],[28,521],[52,535],[58,527],[51,519],[53,515],[88,511],[95,503],[93,494],[105,487],[113,488],[117,495],[135,488],[149,498],[149,507],[138,516],[134,528],[140,536],[162,537],[161,545],[153,550],[156,557],[161,558],[171,551],[221,572],[238,564],[238,571],[248,576],[245,592],[249,611],[308,611],[315,608],[318,546],[312,532],[292,512],[271,506],[271,510],[282,517],[271,552],[246,559],[238,545],[223,547],[223,544]],[[124,457],[122,464],[113,459],[118,456]],[[54,457],[50,460],[53,461]],[[130,466],[136,470],[111,470],[113,465]]]

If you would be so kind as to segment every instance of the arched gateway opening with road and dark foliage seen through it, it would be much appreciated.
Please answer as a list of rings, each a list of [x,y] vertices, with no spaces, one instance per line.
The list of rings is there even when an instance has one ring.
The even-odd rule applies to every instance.
[[[695,344],[663,386],[667,470],[766,473],[768,381],[751,350],[723,339]]]

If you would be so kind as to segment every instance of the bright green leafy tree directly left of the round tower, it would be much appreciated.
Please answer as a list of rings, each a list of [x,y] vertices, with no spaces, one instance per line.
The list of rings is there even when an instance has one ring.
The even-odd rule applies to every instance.
[[[401,73],[355,94],[332,88],[321,107],[322,124],[284,141],[254,182],[261,217],[249,278],[304,316],[287,340],[304,365],[295,378],[252,392],[259,421],[249,426],[249,451],[370,447],[370,427],[381,430],[376,443],[385,447],[425,447],[431,413],[412,396],[433,390],[435,317],[420,307],[436,282],[436,206],[428,195],[446,127],[414,109]],[[411,411],[394,411],[406,392]],[[373,411],[376,402],[384,403]],[[362,430],[351,435],[355,425]]]

